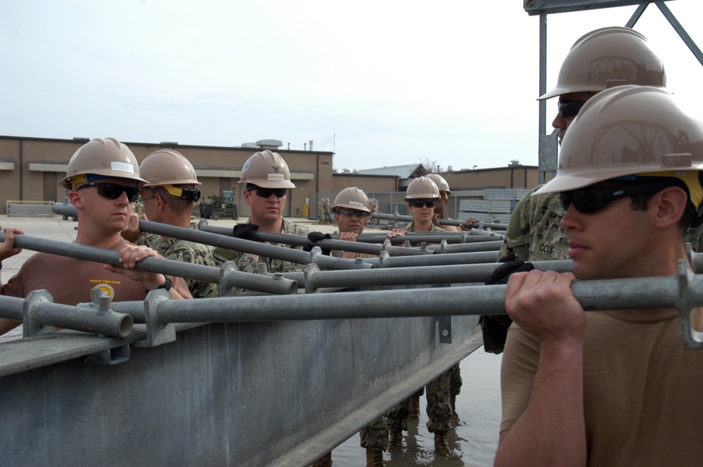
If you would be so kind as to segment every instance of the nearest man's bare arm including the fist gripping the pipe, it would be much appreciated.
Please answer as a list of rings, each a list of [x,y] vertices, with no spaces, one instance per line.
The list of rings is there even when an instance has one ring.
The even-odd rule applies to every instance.
[[[501,433],[495,466],[585,466],[583,339],[586,317],[571,293],[573,274],[510,276],[505,309],[540,342],[527,407]]]

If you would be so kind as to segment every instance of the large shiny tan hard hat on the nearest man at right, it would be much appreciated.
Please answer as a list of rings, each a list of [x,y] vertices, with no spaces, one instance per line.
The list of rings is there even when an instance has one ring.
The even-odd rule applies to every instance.
[[[636,174],[703,170],[703,124],[660,87],[621,86],[589,99],[564,136],[554,179],[534,194]]]

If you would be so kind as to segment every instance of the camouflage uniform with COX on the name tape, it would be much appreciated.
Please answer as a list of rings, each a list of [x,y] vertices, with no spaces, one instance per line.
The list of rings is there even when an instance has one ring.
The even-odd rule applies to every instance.
[[[559,194],[531,196],[538,188],[525,195],[512,212],[508,231],[498,257],[515,252],[518,260],[568,260],[567,233],[561,227],[564,210]]]

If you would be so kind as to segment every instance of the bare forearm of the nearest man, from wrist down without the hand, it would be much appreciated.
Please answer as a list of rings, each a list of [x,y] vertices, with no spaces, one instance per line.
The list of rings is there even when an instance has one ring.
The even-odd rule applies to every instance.
[[[581,341],[542,345],[529,402],[501,433],[494,465],[586,465]]]

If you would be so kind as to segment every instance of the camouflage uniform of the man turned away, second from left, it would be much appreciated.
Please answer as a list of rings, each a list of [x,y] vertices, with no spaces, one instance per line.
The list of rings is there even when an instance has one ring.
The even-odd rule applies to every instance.
[[[198,230],[198,224],[193,222],[189,228]],[[139,238],[137,243],[138,245],[146,245],[149,248],[153,248],[167,260],[217,267],[214,257],[212,257],[212,252],[202,243],[189,242],[180,238],[169,238],[164,241],[160,235],[155,233],[145,233]],[[218,295],[216,283],[196,281],[195,279],[184,280],[193,298],[214,298]]]

